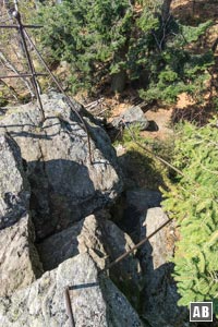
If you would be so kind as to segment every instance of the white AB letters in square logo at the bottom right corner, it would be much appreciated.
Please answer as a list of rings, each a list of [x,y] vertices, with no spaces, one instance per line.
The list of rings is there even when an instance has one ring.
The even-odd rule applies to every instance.
[[[213,302],[191,302],[190,322],[213,322]]]

